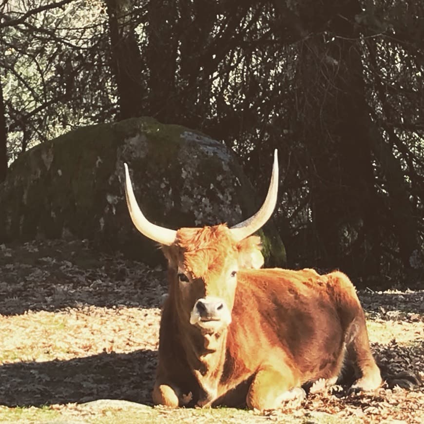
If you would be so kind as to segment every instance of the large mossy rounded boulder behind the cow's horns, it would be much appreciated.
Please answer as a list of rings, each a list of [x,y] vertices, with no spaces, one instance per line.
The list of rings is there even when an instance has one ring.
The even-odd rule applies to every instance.
[[[172,229],[234,225],[266,195],[256,196],[218,141],[132,118],[79,128],[20,155],[0,185],[0,243],[85,238],[157,263],[156,246],[135,230],[127,211],[124,162],[146,217]],[[271,164],[270,157],[270,172]],[[284,246],[272,223],[261,236],[268,264],[283,265]]]

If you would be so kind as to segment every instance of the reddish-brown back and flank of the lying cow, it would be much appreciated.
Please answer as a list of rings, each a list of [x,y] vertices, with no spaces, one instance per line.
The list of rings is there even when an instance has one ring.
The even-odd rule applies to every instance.
[[[227,343],[234,369],[284,361],[305,381],[333,377],[347,327],[333,286],[314,270],[240,270]]]

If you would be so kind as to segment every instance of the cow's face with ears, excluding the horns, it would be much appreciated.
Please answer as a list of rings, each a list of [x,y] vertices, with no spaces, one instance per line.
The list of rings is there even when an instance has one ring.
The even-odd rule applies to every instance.
[[[172,273],[173,301],[181,318],[202,332],[231,323],[240,268],[260,268],[259,237],[236,242],[226,225],[177,231],[176,242],[163,251]]]

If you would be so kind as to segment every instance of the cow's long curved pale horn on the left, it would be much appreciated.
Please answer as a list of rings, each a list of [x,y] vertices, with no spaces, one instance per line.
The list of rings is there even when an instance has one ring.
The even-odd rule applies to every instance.
[[[124,163],[124,167],[125,196],[127,198],[128,211],[130,212],[135,228],[146,237],[160,244],[167,246],[172,245],[175,241],[176,231],[165,227],[159,227],[147,220],[147,218],[143,215],[143,212],[140,211],[137,201],[135,200],[133,185],[131,184],[130,173],[128,172],[128,166],[126,163]]]

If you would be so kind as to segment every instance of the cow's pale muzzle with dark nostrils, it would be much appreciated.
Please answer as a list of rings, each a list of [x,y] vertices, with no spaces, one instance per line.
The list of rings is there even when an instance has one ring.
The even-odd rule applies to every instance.
[[[190,315],[190,324],[210,329],[219,329],[231,323],[231,313],[226,303],[217,297],[198,299]]]

